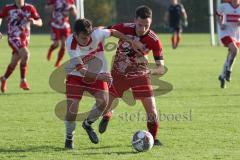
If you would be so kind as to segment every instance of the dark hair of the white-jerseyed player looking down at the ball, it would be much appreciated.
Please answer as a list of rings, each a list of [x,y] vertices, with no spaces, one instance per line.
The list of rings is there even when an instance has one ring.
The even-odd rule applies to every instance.
[[[75,21],[73,31],[76,34],[83,33],[83,34],[90,34],[88,28],[92,27],[92,22],[86,18],[77,19]]]

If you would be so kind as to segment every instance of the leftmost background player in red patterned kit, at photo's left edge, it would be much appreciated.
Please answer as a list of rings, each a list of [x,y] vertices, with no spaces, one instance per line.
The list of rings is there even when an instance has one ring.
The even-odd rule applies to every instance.
[[[25,3],[25,0],[15,0],[14,4],[3,7],[0,11],[0,19],[7,18],[8,23],[8,44],[12,48],[12,59],[5,74],[0,78],[1,91],[7,89],[7,79],[20,62],[21,83],[20,88],[29,90],[26,81],[27,63],[30,52],[28,44],[30,39],[30,24],[42,26],[42,20],[36,8]]]

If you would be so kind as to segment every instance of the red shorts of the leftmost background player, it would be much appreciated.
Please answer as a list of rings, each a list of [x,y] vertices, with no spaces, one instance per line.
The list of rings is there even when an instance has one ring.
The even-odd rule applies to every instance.
[[[12,53],[18,53],[19,49],[28,47],[29,41],[27,38],[8,38],[8,44],[12,48]]]

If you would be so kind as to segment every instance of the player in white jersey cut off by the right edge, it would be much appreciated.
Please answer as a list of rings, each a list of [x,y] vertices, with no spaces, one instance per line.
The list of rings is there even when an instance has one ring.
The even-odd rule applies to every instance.
[[[231,81],[233,63],[240,47],[240,0],[222,3],[217,9],[217,22],[220,25],[220,39],[228,48],[228,55],[219,76],[220,87],[226,88],[226,81]]]

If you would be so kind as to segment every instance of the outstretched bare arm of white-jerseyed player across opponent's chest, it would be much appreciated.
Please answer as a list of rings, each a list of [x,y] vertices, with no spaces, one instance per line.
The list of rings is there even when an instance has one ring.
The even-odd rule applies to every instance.
[[[132,45],[132,48],[135,52],[137,52],[138,54],[142,54],[142,52],[144,50],[144,46],[141,42],[132,40],[127,35],[124,35],[123,33],[119,32],[117,30],[114,30],[114,29],[112,29],[112,36],[119,38],[123,41],[129,42]]]

